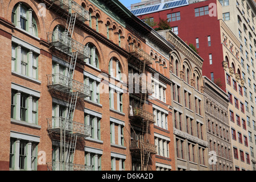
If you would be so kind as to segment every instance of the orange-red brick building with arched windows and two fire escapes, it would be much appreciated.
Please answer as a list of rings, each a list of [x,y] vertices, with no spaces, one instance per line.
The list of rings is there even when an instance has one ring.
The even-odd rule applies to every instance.
[[[1,170],[175,169],[173,46],[119,1],[2,1],[0,32]]]

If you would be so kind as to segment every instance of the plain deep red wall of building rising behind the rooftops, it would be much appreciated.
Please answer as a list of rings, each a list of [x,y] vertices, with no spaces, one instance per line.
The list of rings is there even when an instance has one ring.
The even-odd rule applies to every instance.
[[[213,4],[212,4],[213,3]],[[154,13],[141,14],[138,18],[168,19],[170,27],[184,42],[193,44],[204,59],[203,75],[208,78],[211,73],[215,80],[220,78],[222,89],[225,90],[225,73],[222,69],[223,52],[220,34],[220,12],[217,12],[219,2],[209,0],[192,3],[185,6],[155,11]],[[212,6],[213,5],[213,6]],[[222,18],[222,17],[221,17]],[[156,28],[155,26],[153,28]],[[208,42],[209,40],[209,42]]]

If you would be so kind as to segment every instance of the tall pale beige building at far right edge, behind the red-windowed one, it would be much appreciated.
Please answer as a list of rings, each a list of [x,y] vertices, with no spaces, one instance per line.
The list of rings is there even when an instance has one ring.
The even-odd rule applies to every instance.
[[[245,152],[244,160],[238,148],[238,158],[234,157],[234,165],[244,163],[246,170],[255,170],[256,163],[256,34],[255,34],[255,15],[256,6],[253,0],[220,1],[225,24],[230,28],[240,43],[241,50],[241,75],[245,81],[243,99],[245,100],[245,120],[246,125],[233,125],[234,134],[237,137],[237,147],[245,147],[249,157]],[[237,94],[239,96],[239,94]],[[245,96],[245,97],[244,97]],[[239,142],[240,133],[242,141]],[[234,145],[232,140],[232,144]],[[238,169],[238,168],[237,168]],[[241,168],[240,168],[241,170]]]

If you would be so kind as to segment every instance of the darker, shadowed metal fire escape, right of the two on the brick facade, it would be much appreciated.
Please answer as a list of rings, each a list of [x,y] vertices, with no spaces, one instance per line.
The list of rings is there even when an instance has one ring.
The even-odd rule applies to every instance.
[[[136,134],[137,137],[130,142],[130,151],[141,156],[141,170],[148,170],[148,162],[152,154],[156,154],[155,144],[150,143],[149,128],[155,122],[154,114],[146,111],[146,99],[148,94],[154,92],[151,82],[146,81],[145,69],[146,65],[152,64],[153,58],[135,44],[127,46],[126,50],[130,53],[129,61],[139,68],[139,76],[133,75],[129,77],[129,87],[133,86],[133,91],[140,97],[139,107],[130,107],[129,119],[131,125],[142,127],[142,133]],[[139,87],[139,92],[137,88]],[[134,131],[133,126],[131,130]],[[135,131],[134,131],[135,133]]]

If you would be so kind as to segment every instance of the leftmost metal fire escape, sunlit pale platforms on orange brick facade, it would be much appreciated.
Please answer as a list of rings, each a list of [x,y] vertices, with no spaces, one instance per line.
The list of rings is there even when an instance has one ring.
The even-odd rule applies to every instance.
[[[74,164],[77,138],[91,135],[90,126],[73,121],[76,104],[79,99],[90,96],[89,86],[73,80],[77,59],[83,61],[89,57],[89,49],[72,39],[76,19],[85,22],[88,20],[88,11],[71,0],[52,0],[52,3],[61,9],[67,10],[68,19],[65,31],[48,32],[48,43],[68,57],[67,76],[55,73],[47,75],[48,90],[51,93],[61,94],[68,101],[68,114],[66,117],[48,118],[48,132],[54,139],[60,140],[60,160],[47,163],[48,170],[56,171],[85,171],[89,166]]]

